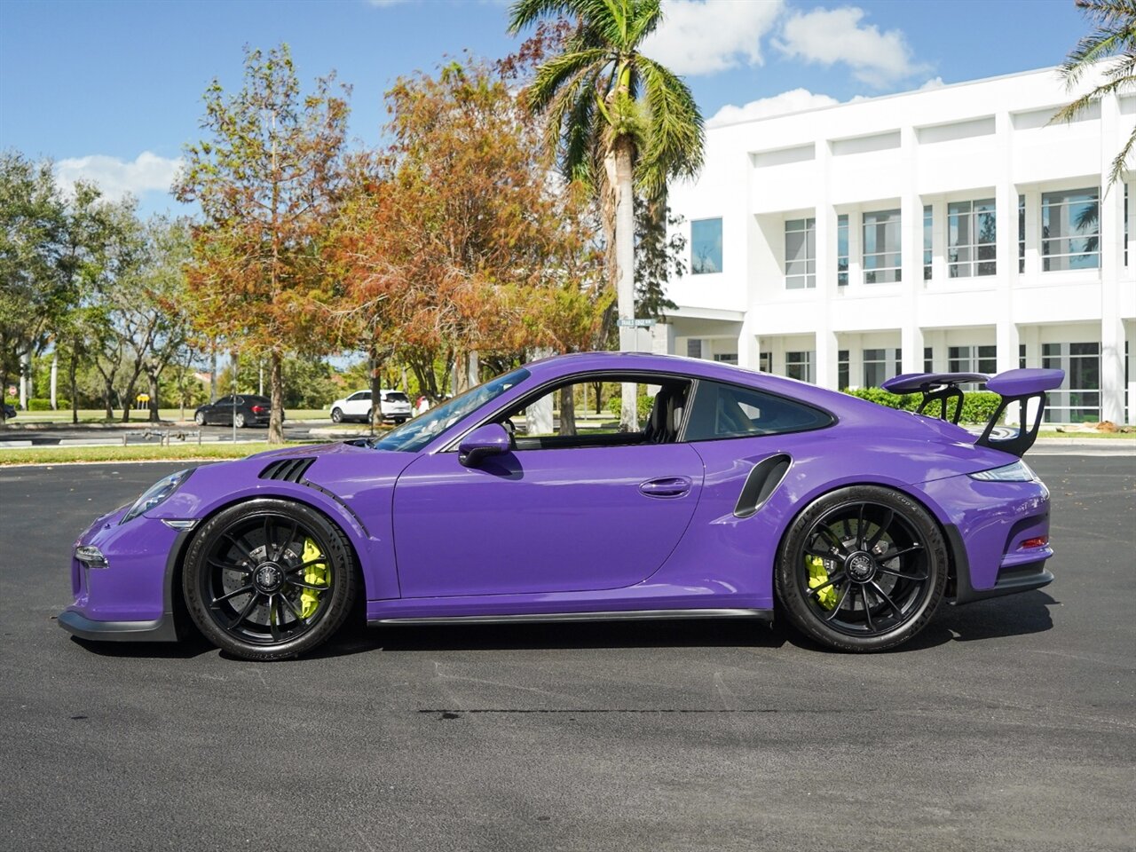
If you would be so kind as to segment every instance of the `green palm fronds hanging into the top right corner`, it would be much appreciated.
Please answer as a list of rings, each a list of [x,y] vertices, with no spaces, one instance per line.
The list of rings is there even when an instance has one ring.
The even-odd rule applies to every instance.
[[[1089,67],[1103,59],[1112,59],[1104,69],[1104,82],[1053,116],[1054,122],[1071,122],[1081,110],[1105,94],[1121,93],[1136,87],[1136,1],[1134,0],[1076,0],[1077,8],[1095,27],[1077,42],[1070,51],[1061,76],[1070,89]],[[1136,127],[1125,147],[1112,160],[1109,185],[1124,179],[1126,161],[1136,145]]]

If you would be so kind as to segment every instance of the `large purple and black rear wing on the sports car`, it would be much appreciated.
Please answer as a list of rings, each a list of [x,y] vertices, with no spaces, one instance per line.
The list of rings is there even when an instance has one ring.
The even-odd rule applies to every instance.
[[[996,376],[983,373],[904,373],[884,382],[883,387],[891,393],[921,393],[922,401],[917,414],[922,414],[928,403],[939,400],[942,402],[939,418],[943,420],[947,419],[947,403],[953,399],[954,414],[950,419],[958,424],[962,415],[963,396],[959,385],[971,382],[985,382],[987,391],[993,391],[1002,398],[997,410],[975,443],[1021,458],[1037,440],[1042,415],[1045,412],[1045,392],[1061,386],[1064,382],[1064,370],[1019,369],[1006,370]],[[1038,400],[1038,406],[1030,424],[1028,404],[1033,399]],[[999,420],[1014,402],[1019,406],[1018,431],[1008,436],[996,436],[994,429]]]

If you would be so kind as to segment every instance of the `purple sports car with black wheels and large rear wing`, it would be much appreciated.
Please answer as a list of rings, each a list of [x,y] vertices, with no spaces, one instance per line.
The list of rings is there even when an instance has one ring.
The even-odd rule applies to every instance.
[[[550,358],[374,441],[167,476],[76,541],[59,624],[136,641],[195,626],[273,660],[364,609],[370,624],[769,619],[779,601],[813,640],[878,651],[944,598],[1053,579],[1049,492],[1020,457],[1062,377],[887,383],[932,417],[701,360]],[[980,436],[957,425],[974,382],[1002,396]],[[554,417],[604,383],[648,394],[641,429]],[[1020,426],[995,427],[1008,408]]]

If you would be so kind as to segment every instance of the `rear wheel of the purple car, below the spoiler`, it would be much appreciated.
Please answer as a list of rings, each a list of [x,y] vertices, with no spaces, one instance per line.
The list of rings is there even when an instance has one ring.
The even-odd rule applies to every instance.
[[[853,485],[793,520],[776,586],[801,633],[838,651],[870,652],[927,626],[946,574],[946,544],[926,509],[891,488]]]

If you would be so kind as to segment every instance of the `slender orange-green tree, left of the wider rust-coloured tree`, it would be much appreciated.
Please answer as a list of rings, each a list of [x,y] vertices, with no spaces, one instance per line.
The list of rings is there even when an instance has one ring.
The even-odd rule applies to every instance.
[[[272,443],[284,440],[285,356],[331,345],[320,306],[334,282],[319,249],[339,203],[348,93],[333,74],[302,94],[287,45],[247,49],[243,87],[206,91],[210,139],[186,147],[174,187],[204,219],[189,272],[197,325],[268,360]]]

